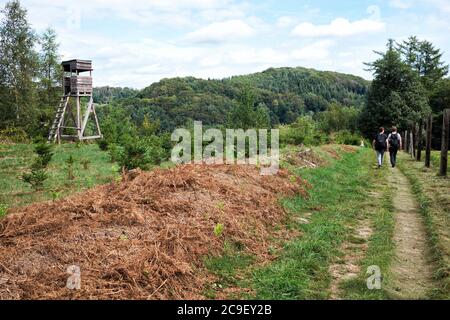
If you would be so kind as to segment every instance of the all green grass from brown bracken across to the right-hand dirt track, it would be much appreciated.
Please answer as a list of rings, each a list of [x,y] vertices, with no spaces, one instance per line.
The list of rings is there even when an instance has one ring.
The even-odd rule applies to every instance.
[[[341,160],[334,159],[321,147],[315,147],[314,151],[326,160],[327,166],[294,169],[312,184],[309,198],[282,200],[292,218],[288,227],[300,229],[301,235],[285,243],[276,252],[277,259],[263,267],[253,264],[252,259],[246,259],[242,252],[208,257],[205,260],[207,269],[219,277],[219,283],[208,288],[208,298],[214,298],[217,286],[228,285],[252,289],[254,294],[245,296],[251,299],[329,298],[329,266],[341,259],[341,244],[365,241],[352,234],[359,220],[369,220],[374,233],[368,240],[366,256],[361,257],[360,275],[342,283],[342,298],[391,298],[385,290],[369,290],[368,275],[365,274],[368,266],[377,265],[381,268],[383,283],[389,281],[394,221],[391,194],[385,188],[387,169],[374,169],[375,158],[369,149],[352,154],[343,152],[338,146],[331,147]],[[289,168],[293,170],[292,166]],[[380,191],[381,198],[368,195],[369,191]],[[309,216],[308,224],[295,222],[296,217],[305,216]]]

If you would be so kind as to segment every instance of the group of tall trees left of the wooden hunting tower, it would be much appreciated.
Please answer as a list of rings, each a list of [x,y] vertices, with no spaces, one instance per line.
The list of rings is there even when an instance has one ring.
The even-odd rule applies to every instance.
[[[20,2],[6,3],[0,20],[0,129],[45,134],[61,95],[59,60],[56,32],[37,34]]]

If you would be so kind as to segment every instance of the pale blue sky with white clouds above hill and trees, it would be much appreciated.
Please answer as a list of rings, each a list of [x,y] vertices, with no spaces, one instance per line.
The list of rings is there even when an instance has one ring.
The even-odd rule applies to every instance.
[[[0,0],[0,6],[5,5]],[[304,66],[360,75],[388,38],[417,35],[450,62],[449,0],[22,0],[63,59],[92,59],[95,85],[223,78]]]

